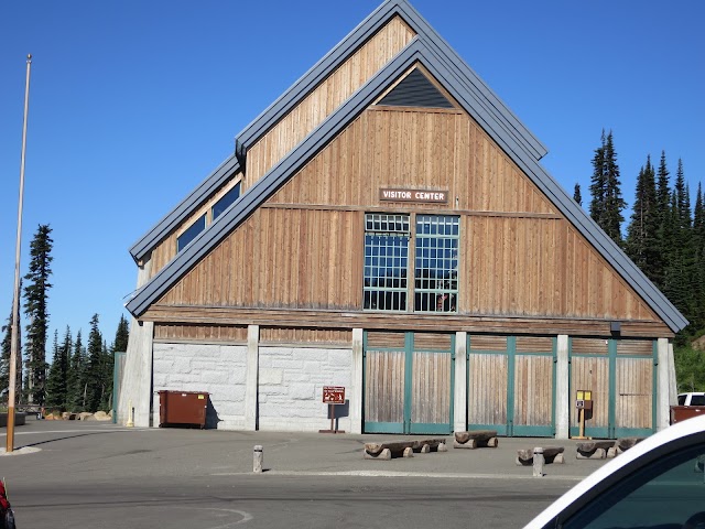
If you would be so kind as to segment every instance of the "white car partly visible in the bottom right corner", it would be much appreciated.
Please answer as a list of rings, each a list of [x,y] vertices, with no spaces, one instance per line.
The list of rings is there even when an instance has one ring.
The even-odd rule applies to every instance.
[[[524,529],[705,529],[705,415],[595,471]]]

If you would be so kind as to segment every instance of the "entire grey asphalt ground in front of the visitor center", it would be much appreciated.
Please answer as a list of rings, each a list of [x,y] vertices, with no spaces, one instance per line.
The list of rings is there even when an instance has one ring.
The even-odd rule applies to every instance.
[[[371,461],[366,442],[424,436],[127,429],[37,421],[0,455],[19,527],[225,529],[276,527],[523,527],[605,461],[576,460],[575,441],[500,438]],[[0,429],[0,446],[6,445]],[[262,474],[253,447],[263,446]],[[517,466],[518,449],[565,447],[565,463]],[[2,450],[0,450],[1,452]],[[479,522],[481,520],[481,523]]]

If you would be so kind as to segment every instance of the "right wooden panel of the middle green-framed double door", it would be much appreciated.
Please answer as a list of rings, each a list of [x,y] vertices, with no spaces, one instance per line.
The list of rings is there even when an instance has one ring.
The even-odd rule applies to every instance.
[[[553,424],[553,357],[516,355],[514,425]]]

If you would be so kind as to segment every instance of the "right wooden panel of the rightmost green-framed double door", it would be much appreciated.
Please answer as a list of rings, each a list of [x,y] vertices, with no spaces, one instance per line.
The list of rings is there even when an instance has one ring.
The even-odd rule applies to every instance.
[[[653,428],[653,358],[617,359],[616,428]]]

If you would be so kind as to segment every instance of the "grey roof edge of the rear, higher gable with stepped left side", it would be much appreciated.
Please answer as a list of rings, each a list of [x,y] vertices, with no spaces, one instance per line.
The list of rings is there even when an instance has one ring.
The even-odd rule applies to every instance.
[[[481,122],[482,127],[495,127],[513,136],[517,144],[536,160],[546,154],[547,151],[539,139],[406,0],[387,0],[248,125],[236,138],[235,153],[132,245],[130,253],[135,262],[142,260],[171,230],[184,222],[207,198],[209,193],[223,185],[238,170],[243,169],[248,149],[296,107],[316,86],[328,78],[338,66],[393,17],[401,17],[417,34],[417,39],[424,40],[427,46],[437,53],[441,61],[463,73],[460,83],[473,95],[476,105],[484,107],[488,116],[491,117],[489,121]],[[235,166],[236,163],[237,166]]]

